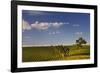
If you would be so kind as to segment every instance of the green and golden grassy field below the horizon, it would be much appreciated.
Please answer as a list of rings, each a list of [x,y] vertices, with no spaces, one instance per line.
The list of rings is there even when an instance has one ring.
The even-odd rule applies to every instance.
[[[68,51],[66,48],[69,48]],[[90,46],[83,45],[78,48],[75,45],[64,46],[39,46],[39,47],[23,47],[22,48],[22,61],[35,62],[35,61],[52,61],[52,60],[80,60],[90,58]]]

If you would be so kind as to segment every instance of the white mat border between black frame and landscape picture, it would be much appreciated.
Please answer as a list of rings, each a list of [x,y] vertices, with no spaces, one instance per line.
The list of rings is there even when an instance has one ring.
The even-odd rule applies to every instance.
[[[27,62],[22,63],[22,10],[41,10],[41,11],[57,11],[57,12],[79,12],[90,13],[90,59],[88,60],[70,60],[70,61],[49,61],[49,62]],[[78,64],[93,64],[94,63],[94,10],[92,9],[76,9],[76,8],[58,8],[58,7],[43,7],[43,6],[18,6],[18,43],[17,43],[17,62],[18,68],[25,67],[43,67],[43,66],[58,66],[58,65],[78,65]],[[85,30],[85,29],[84,29]]]

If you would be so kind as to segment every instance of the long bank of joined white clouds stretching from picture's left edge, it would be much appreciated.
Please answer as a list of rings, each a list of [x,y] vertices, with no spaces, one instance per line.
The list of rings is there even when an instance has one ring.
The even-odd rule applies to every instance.
[[[46,30],[49,28],[60,28],[63,25],[62,22],[54,22],[54,23],[48,23],[48,22],[39,22],[36,21],[32,24],[29,24],[27,21],[22,21],[23,30],[31,30],[31,29],[37,29],[37,30]]]

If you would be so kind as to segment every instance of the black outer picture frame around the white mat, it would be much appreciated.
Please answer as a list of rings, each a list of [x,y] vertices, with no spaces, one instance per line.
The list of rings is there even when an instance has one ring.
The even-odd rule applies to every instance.
[[[94,49],[95,49],[94,64],[18,68],[18,64],[17,64],[17,57],[18,57],[17,56],[17,50],[18,50],[17,49],[18,48],[17,47],[17,41],[18,41],[17,7],[18,5],[93,9],[94,10]],[[11,1],[11,72],[89,68],[89,67],[97,67],[97,6],[96,5],[60,4],[60,3],[33,2],[33,1]]]

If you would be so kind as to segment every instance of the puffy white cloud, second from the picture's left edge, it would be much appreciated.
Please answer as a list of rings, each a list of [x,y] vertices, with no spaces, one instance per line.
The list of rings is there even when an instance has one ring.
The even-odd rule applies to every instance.
[[[31,24],[31,27],[39,30],[46,30],[49,28],[49,24],[46,22],[39,23],[36,21],[35,23]]]

